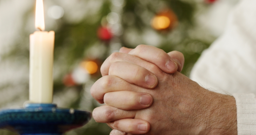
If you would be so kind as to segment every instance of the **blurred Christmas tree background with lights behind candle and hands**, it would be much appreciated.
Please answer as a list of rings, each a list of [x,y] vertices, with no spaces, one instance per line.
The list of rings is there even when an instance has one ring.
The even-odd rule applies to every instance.
[[[55,31],[54,103],[92,111],[90,87],[122,46],[147,44],[185,55],[182,73],[222,34],[238,0],[44,0],[46,31]],[[0,108],[23,107],[29,89],[29,35],[35,0],[0,0]],[[66,135],[107,135],[93,119]],[[16,135],[0,130],[1,135]]]

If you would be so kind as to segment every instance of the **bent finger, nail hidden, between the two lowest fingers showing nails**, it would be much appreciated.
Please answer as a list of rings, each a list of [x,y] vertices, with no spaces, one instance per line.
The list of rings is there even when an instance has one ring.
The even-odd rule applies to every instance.
[[[97,107],[92,111],[92,117],[96,122],[99,123],[108,123],[119,119],[133,119],[136,115],[135,110],[121,110],[116,107],[111,107],[107,105],[103,105],[101,107]]]

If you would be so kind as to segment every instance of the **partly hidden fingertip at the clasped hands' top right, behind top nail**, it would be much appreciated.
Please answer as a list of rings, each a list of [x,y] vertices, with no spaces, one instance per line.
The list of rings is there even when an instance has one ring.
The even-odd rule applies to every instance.
[[[184,66],[185,58],[183,53],[178,51],[172,51],[167,53],[178,64],[178,72],[181,72]]]

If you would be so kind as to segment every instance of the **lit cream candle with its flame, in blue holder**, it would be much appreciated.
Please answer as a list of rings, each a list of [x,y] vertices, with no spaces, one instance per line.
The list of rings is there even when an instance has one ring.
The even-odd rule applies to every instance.
[[[55,32],[45,32],[43,0],[36,0],[36,31],[30,35],[29,99],[32,103],[52,103],[53,50]]]

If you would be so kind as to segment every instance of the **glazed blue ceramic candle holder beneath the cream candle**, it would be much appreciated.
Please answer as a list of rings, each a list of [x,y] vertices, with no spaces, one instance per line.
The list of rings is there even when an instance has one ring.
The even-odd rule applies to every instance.
[[[26,104],[22,109],[0,111],[0,128],[20,135],[61,135],[85,125],[92,114],[60,109],[55,104]]]

